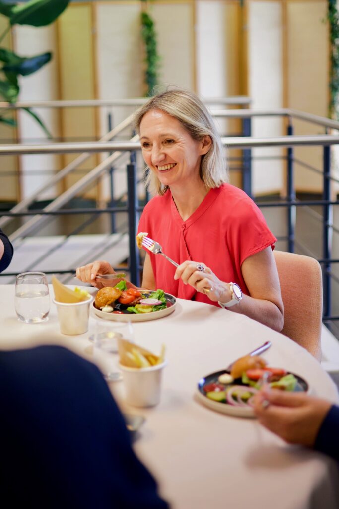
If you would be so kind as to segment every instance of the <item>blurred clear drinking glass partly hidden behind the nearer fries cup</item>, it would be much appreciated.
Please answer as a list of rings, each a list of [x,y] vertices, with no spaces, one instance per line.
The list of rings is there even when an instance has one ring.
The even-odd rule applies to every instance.
[[[102,366],[105,380],[110,382],[122,379],[118,369],[118,338],[134,343],[131,322],[96,320],[94,333],[89,337],[89,340],[93,341],[93,355]]]

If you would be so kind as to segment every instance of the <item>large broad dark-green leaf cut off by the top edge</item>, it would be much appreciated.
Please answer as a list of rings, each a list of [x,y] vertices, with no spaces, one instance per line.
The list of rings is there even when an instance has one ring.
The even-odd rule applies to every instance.
[[[12,8],[11,25],[49,25],[66,9],[70,0],[30,0]]]

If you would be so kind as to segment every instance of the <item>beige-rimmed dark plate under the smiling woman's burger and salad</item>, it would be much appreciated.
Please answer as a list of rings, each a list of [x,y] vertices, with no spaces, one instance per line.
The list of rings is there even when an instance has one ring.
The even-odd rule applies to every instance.
[[[152,292],[142,292],[142,295],[149,296]],[[115,320],[119,322],[145,322],[148,320],[157,320],[158,318],[166,317],[173,313],[176,306],[176,298],[169,293],[165,293],[166,307],[159,309],[158,311],[152,311],[150,313],[130,313],[127,311],[127,305],[117,304],[114,306],[112,312],[102,311],[95,306],[93,302],[94,313],[104,320]]]

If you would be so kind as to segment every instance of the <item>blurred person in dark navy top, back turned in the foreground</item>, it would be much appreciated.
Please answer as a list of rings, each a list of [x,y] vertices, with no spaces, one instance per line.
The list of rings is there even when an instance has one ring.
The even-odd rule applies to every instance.
[[[94,364],[56,346],[0,352],[0,385],[8,507],[168,508]]]

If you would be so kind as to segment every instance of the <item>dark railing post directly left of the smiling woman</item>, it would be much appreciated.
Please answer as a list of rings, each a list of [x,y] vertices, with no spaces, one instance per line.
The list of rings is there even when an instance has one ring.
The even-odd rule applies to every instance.
[[[135,153],[131,152],[130,163],[127,165],[127,192],[128,192],[128,226],[129,226],[129,247],[130,247],[130,276],[131,281],[140,286],[139,275],[139,249],[135,240],[137,234],[137,164]]]

